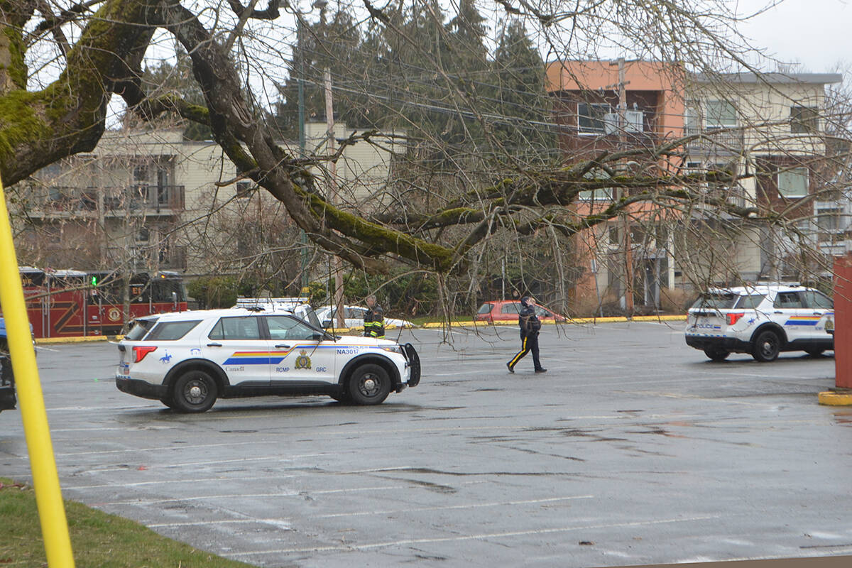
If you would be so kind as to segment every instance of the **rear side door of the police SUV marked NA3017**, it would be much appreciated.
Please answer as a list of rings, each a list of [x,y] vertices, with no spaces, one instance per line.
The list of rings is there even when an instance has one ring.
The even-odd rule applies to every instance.
[[[256,382],[269,384],[269,341],[261,338],[256,316],[219,318],[202,340],[204,359],[215,361],[232,385]]]

